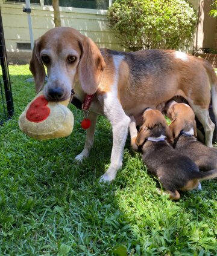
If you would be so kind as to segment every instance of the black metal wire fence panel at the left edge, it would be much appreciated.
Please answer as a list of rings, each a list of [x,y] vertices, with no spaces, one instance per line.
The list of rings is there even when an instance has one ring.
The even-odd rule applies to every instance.
[[[7,65],[4,31],[0,9],[0,125],[13,116],[13,97]]]

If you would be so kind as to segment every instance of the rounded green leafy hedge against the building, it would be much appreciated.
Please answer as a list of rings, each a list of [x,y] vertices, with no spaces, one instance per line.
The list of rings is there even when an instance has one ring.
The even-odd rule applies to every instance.
[[[133,51],[188,45],[197,22],[184,0],[116,0],[107,18],[121,45]]]

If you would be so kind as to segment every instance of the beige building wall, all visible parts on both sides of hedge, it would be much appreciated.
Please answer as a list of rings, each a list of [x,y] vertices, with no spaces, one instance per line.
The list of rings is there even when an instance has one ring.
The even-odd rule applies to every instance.
[[[200,4],[200,19],[198,29],[193,36],[192,45],[184,51],[192,52],[195,48],[213,48],[215,27],[217,19],[210,18],[210,0],[189,0],[195,10]],[[17,50],[17,43],[30,43],[27,13],[23,12],[25,4],[9,4],[0,0],[2,22],[4,26],[5,44],[8,61],[11,63],[28,63],[31,50]],[[31,21],[34,39],[39,38],[50,28],[54,27],[53,8],[43,5],[31,4]],[[123,50],[113,33],[108,30],[105,10],[90,10],[83,8],[60,7],[61,25],[73,27],[89,36],[99,47]]]

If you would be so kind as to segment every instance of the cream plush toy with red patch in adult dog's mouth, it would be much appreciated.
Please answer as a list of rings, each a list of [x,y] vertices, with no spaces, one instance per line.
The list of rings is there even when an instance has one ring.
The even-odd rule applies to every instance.
[[[41,91],[19,117],[20,129],[38,140],[68,136],[74,126],[74,116],[67,108],[69,100],[48,102]]]

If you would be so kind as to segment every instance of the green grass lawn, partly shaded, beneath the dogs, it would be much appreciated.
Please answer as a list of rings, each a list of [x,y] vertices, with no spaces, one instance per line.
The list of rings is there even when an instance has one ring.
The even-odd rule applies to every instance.
[[[184,192],[178,202],[156,191],[127,140],[116,180],[100,184],[112,150],[100,117],[89,159],[81,111],[69,137],[37,141],[17,120],[34,97],[28,65],[10,66],[14,116],[0,126],[0,255],[217,255],[217,182]]]

